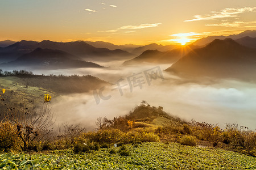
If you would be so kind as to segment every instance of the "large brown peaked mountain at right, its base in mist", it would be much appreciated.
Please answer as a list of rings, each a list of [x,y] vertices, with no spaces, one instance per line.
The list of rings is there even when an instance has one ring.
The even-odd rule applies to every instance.
[[[232,39],[216,39],[189,52],[166,71],[188,76],[255,79],[256,49]]]

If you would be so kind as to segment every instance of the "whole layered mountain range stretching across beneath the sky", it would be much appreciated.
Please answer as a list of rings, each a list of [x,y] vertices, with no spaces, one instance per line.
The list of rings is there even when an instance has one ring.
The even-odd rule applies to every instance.
[[[209,36],[184,46],[149,44],[138,47],[131,44],[114,45],[103,41],[49,40],[41,42],[22,40],[13,43],[14,41],[10,40],[0,41],[1,67],[35,66],[51,69],[101,67],[86,61],[127,59],[123,63],[124,66],[134,63],[169,63],[173,65],[166,71],[193,76],[246,78],[256,75],[254,69],[256,31],[244,31],[226,37]],[[11,45],[6,46],[8,44]],[[107,46],[110,49],[104,48]],[[130,52],[137,53],[137,57],[115,48],[129,49]]]

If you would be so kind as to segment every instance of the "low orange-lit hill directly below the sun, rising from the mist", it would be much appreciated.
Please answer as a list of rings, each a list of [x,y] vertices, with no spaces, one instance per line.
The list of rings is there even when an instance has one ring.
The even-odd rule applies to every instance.
[[[123,65],[132,65],[135,63],[175,63],[185,54],[197,48],[195,45],[185,45],[180,48],[159,52],[159,50],[146,50],[138,57],[125,61]]]

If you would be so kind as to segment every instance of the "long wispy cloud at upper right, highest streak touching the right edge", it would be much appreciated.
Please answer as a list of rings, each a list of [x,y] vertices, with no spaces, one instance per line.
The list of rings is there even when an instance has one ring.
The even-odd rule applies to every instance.
[[[197,20],[213,20],[218,18],[229,18],[229,17],[237,17],[237,14],[241,14],[243,12],[251,12],[254,11],[256,7],[244,7],[244,8],[225,8],[221,11],[211,11],[210,14],[205,15],[194,15],[194,19],[184,20],[184,22],[193,22]]]

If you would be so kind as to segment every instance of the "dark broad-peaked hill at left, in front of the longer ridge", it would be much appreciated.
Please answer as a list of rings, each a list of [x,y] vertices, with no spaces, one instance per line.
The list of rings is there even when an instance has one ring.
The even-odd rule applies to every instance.
[[[82,61],[80,58],[61,50],[37,48],[23,54],[14,61],[2,63],[1,67],[33,67],[36,69],[64,69],[79,67],[102,67],[96,63]]]

